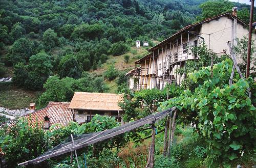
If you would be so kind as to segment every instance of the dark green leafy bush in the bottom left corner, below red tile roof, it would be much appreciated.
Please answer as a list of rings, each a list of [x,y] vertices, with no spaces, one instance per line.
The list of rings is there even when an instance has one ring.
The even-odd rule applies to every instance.
[[[25,119],[0,130],[1,149],[5,153],[7,165],[16,167],[17,163],[33,159],[48,150],[48,139],[37,124],[28,125]],[[39,165],[38,165],[39,166]]]

